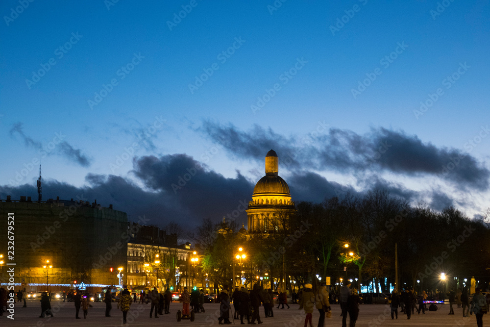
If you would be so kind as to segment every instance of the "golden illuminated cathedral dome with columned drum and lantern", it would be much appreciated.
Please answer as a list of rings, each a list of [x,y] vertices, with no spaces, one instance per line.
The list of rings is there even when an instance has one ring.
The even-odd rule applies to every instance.
[[[278,175],[279,158],[274,150],[267,152],[265,166],[266,176],[255,184],[246,209],[248,233],[287,229],[289,218],[296,213],[289,186]]]

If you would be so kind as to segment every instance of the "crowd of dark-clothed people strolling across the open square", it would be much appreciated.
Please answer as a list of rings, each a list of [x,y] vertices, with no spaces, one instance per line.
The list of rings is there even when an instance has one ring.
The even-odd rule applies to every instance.
[[[294,303],[299,303],[299,309],[303,309],[305,316],[305,327],[313,327],[313,312],[315,308],[319,312],[318,326],[323,326],[325,317],[331,317],[331,301],[338,301],[341,307],[342,326],[347,327],[347,315],[349,316],[349,326],[355,327],[357,318],[359,316],[359,304],[362,303],[362,298],[357,294],[355,288],[350,287],[350,281],[346,281],[344,285],[337,290],[332,290],[328,293],[326,284],[322,283],[318,287],[317,291],[313,291],[312,284],[305,284],[299,293],[293,293],[292,299]],[[275,293],[275,294],[274,294]],[[224,285],[220,294],[217,297],[217,302],[220,305],[220,317],[218,322],[220,325],[232,324],[230,321],[231,311],[233,311],[233,320],[240,319],[240,324],[244,325],[244,318],[246,322],[250,325],[262,324],[260,314],[260,306],[263,306],[263,317],[273,318],[274,317],[274,300],[275,295],[277,295],[277,307],[276,309],[287,309],[290,308],[288,304],[288,298],[286,292],[272,292],[272,289],[264,289],[262,285],[255,283],[251,290],[247,290],[245,287],[238,287],[231,293],[228,285]],[[21,290],[16,293],[17,302],[24,301],[25,297]],[[105,316],[110,317],[110,311],[112,309],[113,293],[111,288],[108,287],[105,292],[104,302],[106,303]],[[407,287],[402,292],[393,290],[389,298],[389,305],[391,307],[391,317],[392,319],[398,319],[398,308],[401,308],[400,313],[406,315],[407,319],[415,313],[425,314],[426,310],[435,311],[438,309],[436,303],[431,303],[430,301],[444,301],[448,299],[449,302],[449,315],[454,315],[454,304],[456,304],[457,309],[462,309],[463,317],[469,317],[469,315],[474,314],[477,321],[477,326],[483,326],[483,315],[488,313],[490,309],[490,293],[486,293],[486,296],[482,294],[481,289],[476,288],[472,294],[472,298],[468,295],[467,289],[458,289],[454,291],[451,289],[448,293],[443,292],[429,292],[426,293],[422,291],[420,294],[414,291],[413,288]],[[90,304],[89,293],[83,293],[76,289],[75,291],[68,293],[67,298],[69,302],[73,302],[75,306],[75,319],[81,319],[79,317],[80,308],[83,311],[83,318],[85,319],[88,315],[89,308],[92,307]],[[158,315],[170,314],[170,303],[172,302],[172,292],[167,289],[164,293],[159,293],[157,288],[154,287],[153,290],[145,293],[141,291],[139,294],[140,303],[151,302],[150,308],[150,318],[158,318]],[[63,302],[65,302],[65,297],[63,297]],[[205,312],[204,310],[204,291],[202,289],[193,289],[190,293],[187,287],[184,287],[184,291],[181,294],[182,301],[182,316],[189,317],[190,309],[194,313]],[[4,303],[5,302],[5,303]],[[51,299],[47,292],[42,292],[41,294],[41,315],[39,318],[44,318],[46,316],[53,317],[51,311]],[[131,304],[138,302],[138,296],[136,293],[131,296],[128,289],[124,289],[119,294],[119,302],[117,307],[123,313],[123,323],[127,322],[127,313],[130,309]],[[0,309],[0,315],[4,312],[3,306],[6,305],[6,291],[0,288],[0,303],[2,307]],[[231,306],[233,304],[233,309]],[[429,304],[429,307],[427,307]],[[282,306],[282,307],[281,307]]]

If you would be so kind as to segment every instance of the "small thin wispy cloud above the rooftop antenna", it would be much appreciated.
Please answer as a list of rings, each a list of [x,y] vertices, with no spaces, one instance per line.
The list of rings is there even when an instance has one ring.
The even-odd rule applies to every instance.
[[[53,141],[50,142],[52,143],[52,146],[48,144],[45,147],[43,147],[41,142],[35,141],[31,137],[27,136],[24,133],[23,125],[20,122],[15,123],[12,128],[10,128],[10,135],[14,136],[16,134],[24,140],[26,147],[37,149],[42,155],[53,155],[56,153],[82,167],[90,166],[89,158],[83,154],[81,150],[74,149],[68,142],[63,141],[63,136],[61,133],[59,135],[55,134],[55,138],[53,138]]]

